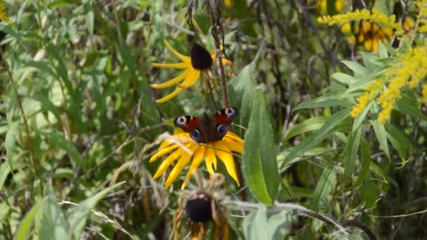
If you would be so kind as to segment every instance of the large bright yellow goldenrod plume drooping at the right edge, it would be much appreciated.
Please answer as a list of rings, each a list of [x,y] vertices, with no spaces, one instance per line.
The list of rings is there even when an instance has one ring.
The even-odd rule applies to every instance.
[[[398,59],[397,65],[390,67],[380,78],[365,89],[365,93],[357,98],[357,105],[351,111],[353,118],[357,117],[367,104],[381,91],[381,86],[388,81],[388,86],[379,95],[377,101],[381,105],[379,123],[383,124],[390,117],[394,103],[401,98],[402,88],[415,88],[427,76],[427,49],[425,47],[410,48],[405,55]],[[423,100],[427,97],[427,87],[423,86]]]

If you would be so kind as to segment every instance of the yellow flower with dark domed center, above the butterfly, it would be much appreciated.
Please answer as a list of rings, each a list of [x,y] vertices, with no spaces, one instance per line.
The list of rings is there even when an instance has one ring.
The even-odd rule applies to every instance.
[[[204,71],[208,71],[213,65],[213,59],[216,56],[216,52],[213,51],[209,53],[203,46],[199,44],[194,44],[190,51],[190,56],[183,55],[178,53],[172,46],[168,43],[168,41],[164,40],[164,44],[166,44],[167,48],[176,55],[182,62],[178,63],[152,63],[153,67],[169,67],[175,69],[183,69],[178,76],[173,79],[166,81],[162,84],[151,84],[152,88],[169,88],[171,86],[176,86],[175,90],[164,96],[163,98],[157,99],[157,103],[166,102],[176,97],[181,91],[185,88],[190,88],[193,86],[199,76]],[[225,58],[221,59],[223,66],[232,66],[232,62]]]

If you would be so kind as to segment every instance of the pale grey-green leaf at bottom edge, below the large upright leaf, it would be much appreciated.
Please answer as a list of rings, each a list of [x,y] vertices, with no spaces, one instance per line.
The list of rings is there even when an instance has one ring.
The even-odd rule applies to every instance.
[[[289,234],[292,218],[287,211],[282,211],[268,218],[267,209],[258,208],[251,212],[242,222],[244,239],[284,239]]]

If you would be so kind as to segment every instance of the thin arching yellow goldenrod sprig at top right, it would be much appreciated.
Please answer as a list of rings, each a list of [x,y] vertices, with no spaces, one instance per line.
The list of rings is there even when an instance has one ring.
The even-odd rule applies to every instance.
[[[333,16],[325,15],[317,18],[317,22],[327,23],[328,25],[344,25],[355,20],[369,20],[369,22],[376,23],[383,28],[395,29],[398,34],[402,34],[402,25],[396,22],[395,15],[388,16],[376,8],[372,8],[372,11],[363,9],[362,11],[356,10],[354,12]]]

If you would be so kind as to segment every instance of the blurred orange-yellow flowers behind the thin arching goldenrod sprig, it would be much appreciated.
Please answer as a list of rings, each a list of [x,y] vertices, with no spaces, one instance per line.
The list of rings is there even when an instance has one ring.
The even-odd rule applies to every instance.
[[[368,20],[361,20],[353,27],[353,32],[350,23],[345,23],[341,26],[341,32],[346,34],[349,44],[361,44],[368,52],[378,51],[379,41],[390,41],[394,34],[392,28],[381,28],[380,25]]]

